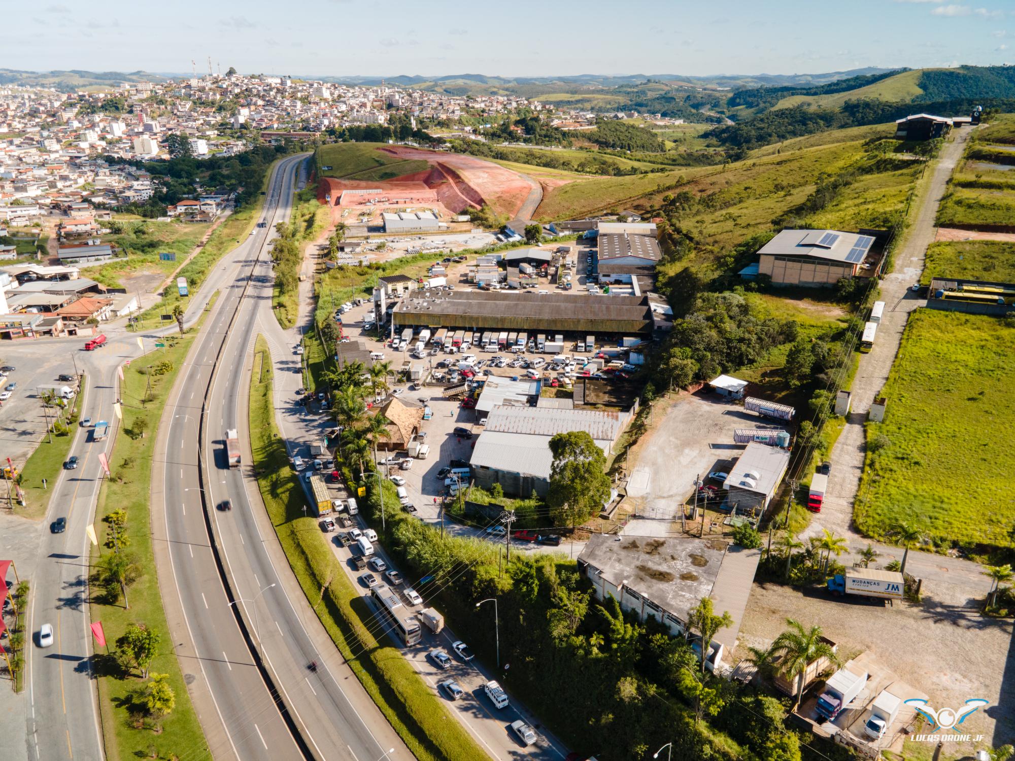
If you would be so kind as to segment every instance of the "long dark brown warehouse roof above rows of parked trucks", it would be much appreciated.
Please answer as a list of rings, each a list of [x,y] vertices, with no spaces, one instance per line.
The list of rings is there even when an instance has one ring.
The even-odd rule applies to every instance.
[[[592,334],[651,334],[648,296],[584,296],[563,293],[443,291],[412,294],[392,315],[396,328],[496,328],[576,331]]]

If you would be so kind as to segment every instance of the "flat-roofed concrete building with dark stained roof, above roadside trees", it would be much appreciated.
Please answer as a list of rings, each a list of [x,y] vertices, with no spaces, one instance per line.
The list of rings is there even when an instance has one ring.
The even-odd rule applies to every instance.
[[[618,541],[619,540],[619,541]],[[654,618],[671,635],[689,637],[690,611],[710,597],[718,614],[727,611],[731,626],[720,629],[707,648],[705,666],[725,665],[750,598],[760,550],[745,550],[716,539],[690,537],[613,537],[593,534],[578,558],[579,572],[596,597],[608,596],[638,621]],[[692,641],[700,655],[700,641]]]

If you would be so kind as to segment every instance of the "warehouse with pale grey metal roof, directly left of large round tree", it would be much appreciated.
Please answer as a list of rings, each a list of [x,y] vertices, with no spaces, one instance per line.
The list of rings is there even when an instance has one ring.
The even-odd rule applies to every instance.
[[[630,418],[630,412],[497,405],[473,449],[472,478],[484,489],[500,484],[507,495],[525,497],[535,491],[545,496],[553,465],[552,436],[586,431],[609,455]]]

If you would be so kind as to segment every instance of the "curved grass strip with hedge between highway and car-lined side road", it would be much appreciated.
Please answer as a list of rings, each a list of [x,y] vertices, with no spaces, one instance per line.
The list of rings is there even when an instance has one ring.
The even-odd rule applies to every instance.
[[[258,336],[251,376],[250,425],[261,496],[289,565],[342,656],[392,727],[421,761],[483,758],[483,750],[442,699],[387,640],[368,629],[374,613],[355,591],[314,517],[289,467],[272,403],[272,366]]]

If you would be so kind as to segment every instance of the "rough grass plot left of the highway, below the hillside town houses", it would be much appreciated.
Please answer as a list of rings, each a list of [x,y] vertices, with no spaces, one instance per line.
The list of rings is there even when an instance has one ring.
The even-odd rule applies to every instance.
[[[118,220],[119,221],[119,220]],[[168,275],[190,256],[194,247],[208,231],[210,223],[158,222],[155,220],[122,221],[124,231],[107,236],[106,243],[119,247],[126,262],[112,262],[81,270],[90,277],[111,288],[121,286],[120,276],[137,270],[158,271]],[[177,261],[159,260],[161,253],[176,254]]]

